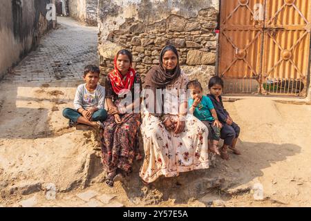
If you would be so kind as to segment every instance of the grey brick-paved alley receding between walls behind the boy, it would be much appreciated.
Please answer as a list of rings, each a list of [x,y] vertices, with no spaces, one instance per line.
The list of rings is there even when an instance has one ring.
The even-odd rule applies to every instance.
[[[5,80],[15,82],[70,81],[82,78],[84,66],[98,65],[97,27],[83,26],[69,17],[57,18],[57,29],[42,39]]]

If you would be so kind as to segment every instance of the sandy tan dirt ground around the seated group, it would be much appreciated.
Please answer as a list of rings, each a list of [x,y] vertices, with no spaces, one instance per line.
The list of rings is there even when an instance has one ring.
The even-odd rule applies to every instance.
[[[68,128],[62,117],[79,83],[0,84],[0,206],[29,198],[35,206],[90,206],[77,198],[90,190],[124,206],[311,206],[310,105],[264,97],[225,102],[241,126],[242,155],[149,186],[136,162],[125,182],[109,189],[94,131]],[[49,184],[55,200],[46,199]],[[254,200],[254,184],[263,185],[262,200]]]

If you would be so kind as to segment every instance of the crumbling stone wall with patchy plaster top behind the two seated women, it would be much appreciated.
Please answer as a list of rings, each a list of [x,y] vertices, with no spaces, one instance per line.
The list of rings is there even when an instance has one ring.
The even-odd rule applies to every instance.
[[[133,54],[133,66],[142,75],[159,64],[167,44],[178,49],[182,70],[207,89],[215,73],[218,39],[218,1],[107,1],[99,3],[99,53],[102,75],[113,68],[117,50]]]

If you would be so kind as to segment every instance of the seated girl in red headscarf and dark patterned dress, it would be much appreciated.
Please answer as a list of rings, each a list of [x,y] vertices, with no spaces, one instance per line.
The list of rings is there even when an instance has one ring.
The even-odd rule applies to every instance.
[[[131,68],[133,56],[128,50],[115,55],[114,70],[106,77],[106,104],[109,117],[102,132],[102,163],[106,184],[113,187],[131,172],[135,158],[140,159],[137,133],[140,127],[140,75]]]

